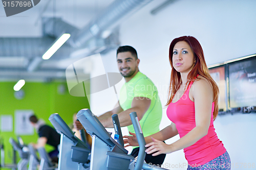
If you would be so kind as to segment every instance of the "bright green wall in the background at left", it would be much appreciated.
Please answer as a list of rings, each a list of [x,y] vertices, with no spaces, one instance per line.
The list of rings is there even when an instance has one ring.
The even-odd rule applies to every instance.
[[[16,82],[0,82],[0,115],[13,116],[13,131],[0,132],[5,146],[5,162],[11,163],[12,147],[9,138],[17,139],[14,134],[14,111],[15,110],[33,110],[38,118],[45,120],[46,124],[51,125],[48,120],[52,113],[58,113],[68,124],[73,122],[73,114],[83,108],[89,108],[87,98],[75,97],[69,94],[66,82],[35,83],[26,82],[22,87],[25,91],[25,97],[17,100],[14,97],[13,86]],[[64,85],[66,91],[62,94],[58,92],[59,85]],[[21,135],[24,143],[37,141],[36,132],[34,135]],[[48,151],[51,147],[46,148]],[[18,155],[18,154],[17,154]]]

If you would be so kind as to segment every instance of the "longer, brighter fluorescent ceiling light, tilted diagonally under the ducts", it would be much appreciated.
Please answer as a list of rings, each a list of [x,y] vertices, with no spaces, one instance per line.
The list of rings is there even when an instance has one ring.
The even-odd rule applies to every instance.
[[[70,34],[63,34],[59,39],[47,50],[47,52],[42,56],[42,59],[48,60],[52,55],[65,43],[70,37]]]

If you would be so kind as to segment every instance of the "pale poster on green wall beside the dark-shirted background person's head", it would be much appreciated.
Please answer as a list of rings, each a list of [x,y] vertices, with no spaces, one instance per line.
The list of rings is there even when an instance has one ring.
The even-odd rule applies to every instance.
[[[30,124],[29,117],[33,115],[33,110],[15,110],[15,134],[16,135],[33,135],[34,128]]]

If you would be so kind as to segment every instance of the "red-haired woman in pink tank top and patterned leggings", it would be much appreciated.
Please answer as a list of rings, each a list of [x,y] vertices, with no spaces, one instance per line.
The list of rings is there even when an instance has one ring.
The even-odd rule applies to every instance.
[[[210,77],[202,46],[195,37],[175,38],[169,47],[172,67],[167,116],[172,123],[145,137],[147,154],[153,156],[184,149],[187,169],[230,169],[230,158],[219,140],[214,120],[218,114],[219,88]],[[125,143],[138,145],[136,135],[124,136]],[[177,134],[172,144],[164,140]]]

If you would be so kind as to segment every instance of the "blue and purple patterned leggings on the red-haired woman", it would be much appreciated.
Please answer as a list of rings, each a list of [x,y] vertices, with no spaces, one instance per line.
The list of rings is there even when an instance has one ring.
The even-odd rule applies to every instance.
[[[212,159],[211,161],[201,165],[200,167],[190,167],[188,165],[187,170],[206,170],[206,169],[210,169],[210,170],[229,170],[231,169],[231,161],[230,161],[230,157],[227,153],[227,151],[215,158]]]

